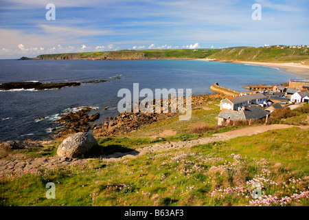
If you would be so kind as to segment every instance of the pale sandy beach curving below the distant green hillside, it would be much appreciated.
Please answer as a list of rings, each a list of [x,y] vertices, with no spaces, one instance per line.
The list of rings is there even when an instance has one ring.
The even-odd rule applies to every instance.
[[[282,68],[286,72],[297,74],[302,78],[309,79],[309,65],[301,65],[299,63],[264,63],[264,62],[251,62],[251,61],[218,61],[216,59],[194,59],[195,61],[215,61],[215,62],[231,62],[231,63],[244,63],[249,65],[261,65],[266,67]]]

